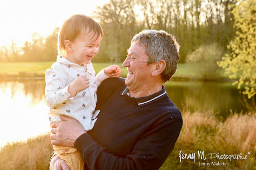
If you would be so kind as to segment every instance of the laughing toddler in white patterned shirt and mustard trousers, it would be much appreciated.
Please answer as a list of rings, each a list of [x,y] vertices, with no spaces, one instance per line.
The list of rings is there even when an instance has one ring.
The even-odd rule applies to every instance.
[[[60,28],[59,55],[45,75],[50,124],[61,121],[59,115],[66,115],[76,119],[85,131],[93,128],[99,114],[95,111],[97,87],[109,77],[118,77],[121,71],[119,66],[111,65],[95,77],[91,59],[99,52],[102,37],[101,26],[84,15],[71,16]],[[76,148],[53,147],[71,170],[84,169],[83,158]]]

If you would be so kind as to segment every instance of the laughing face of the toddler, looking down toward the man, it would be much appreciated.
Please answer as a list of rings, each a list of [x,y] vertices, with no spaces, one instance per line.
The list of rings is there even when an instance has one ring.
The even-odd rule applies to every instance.
[[[101,39],[102,36],[99,36],[99,38],[95,40],[93,33],[80,33],[72,42],[73,53],[68,57],[69,61],[79,65],[90,63],[91,59],[99,52]]]

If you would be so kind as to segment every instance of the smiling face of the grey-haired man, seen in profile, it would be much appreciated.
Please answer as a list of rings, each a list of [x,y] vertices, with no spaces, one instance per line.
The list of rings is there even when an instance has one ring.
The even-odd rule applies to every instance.
[[[132,43],[127,52],[128,55],[123,62],[123,67],[127,67],[128,71],[125,85],[131,91],[139,91],[152,80],[153,65],[147,65],[149,57],[145,47]]]

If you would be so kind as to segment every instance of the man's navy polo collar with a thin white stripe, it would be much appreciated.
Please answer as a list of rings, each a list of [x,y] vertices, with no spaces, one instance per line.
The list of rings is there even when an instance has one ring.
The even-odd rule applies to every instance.
[[[129,92],[127,86],[121,91],[120,95],[127,95]],[[167,96],[167,92],[165,91],[165,87],[163,85],[161,91],[154,93],[153,95],[149,95],[146,97],[133,97],[139,106],[145,106],[150,103],[153,103],[155,101],[158,101],[159,99],[162,99],[163,97]]]

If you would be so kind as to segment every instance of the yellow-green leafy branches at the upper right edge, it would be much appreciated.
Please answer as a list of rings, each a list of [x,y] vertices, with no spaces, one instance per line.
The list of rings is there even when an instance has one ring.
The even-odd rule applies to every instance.
[[[244,86],[243,94],[248,99],[256,95],[256,1],[238,2],[232,10],[236,36],[230,41],[226,54],[218,65],[225,69],[230,79],[238,79],[238,89]]]

